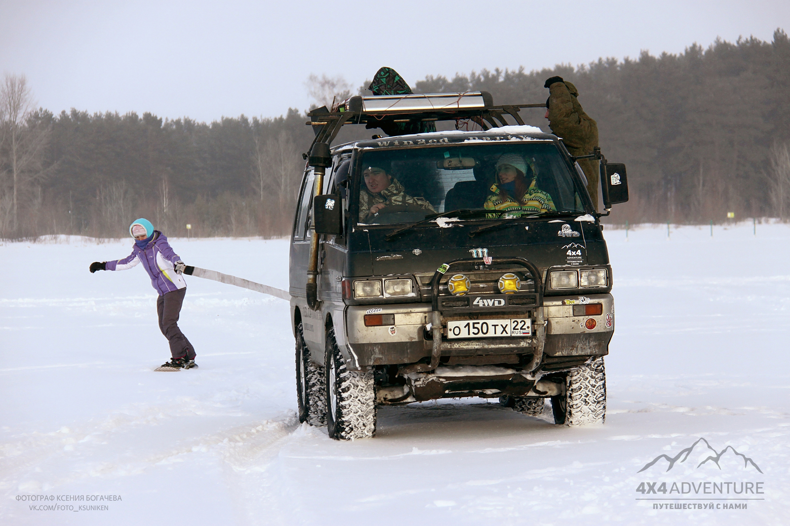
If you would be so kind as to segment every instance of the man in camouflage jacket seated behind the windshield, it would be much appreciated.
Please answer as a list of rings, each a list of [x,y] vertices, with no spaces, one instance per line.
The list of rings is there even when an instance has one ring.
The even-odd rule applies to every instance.
[[[385,168],[369,165],[362,172],[365,187],[359,190],[359,221],[366,222],[379,212],[435,213],[431,203],[422,197],[406,195],[403,185]]]

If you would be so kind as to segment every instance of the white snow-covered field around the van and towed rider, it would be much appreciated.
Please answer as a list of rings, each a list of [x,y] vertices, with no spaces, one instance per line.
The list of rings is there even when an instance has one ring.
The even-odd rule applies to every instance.
[[[378,436],[353,442],[295,419],[286,302],[187,278],[200,368],[154,373],[169,351],[145,272],[88,273],[131,240],[0,245],[0,524],[788,524],[790,227],[604,233],[604,426],[446,400],[382,408]],[[288,287],[284,240],[171,242]],[[701,442],[638,472],[698,438],[754,464],[728,449],[697,467]]]

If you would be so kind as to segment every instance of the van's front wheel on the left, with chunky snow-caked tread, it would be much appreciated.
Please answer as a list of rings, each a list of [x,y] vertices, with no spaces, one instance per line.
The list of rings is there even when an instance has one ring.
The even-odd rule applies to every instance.
[[[335,329],[326,334],[326,429],[329,438],[353,440],[376,434],[376,395],[373,372],[346,368],[337,347]]]

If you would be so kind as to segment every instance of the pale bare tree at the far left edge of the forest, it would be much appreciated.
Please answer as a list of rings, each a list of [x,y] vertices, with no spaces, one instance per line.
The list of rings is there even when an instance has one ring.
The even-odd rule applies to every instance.
[[[50,130],[31,118],[35,106],[24,75],[6,74],[0,86],[0,167],[2,174],[11,179],[10,214],[13,231],[19,228],[21,190],[32,186],[45,175],[43,154]]]

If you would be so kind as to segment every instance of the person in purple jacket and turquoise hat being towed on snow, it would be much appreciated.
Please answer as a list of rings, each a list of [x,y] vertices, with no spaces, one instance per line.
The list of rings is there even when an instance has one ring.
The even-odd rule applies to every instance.
[[[116,261],[94,261],[91,273],[97,270],[126,270],[142,263],[151,276],[151,285],[159,294],[156,299],[156,314],[159,316],[159,329],[170,342],[171,361],[161,367],[165,370],[192,369],[195,351],[190,340],[179,329],[178,321],[181,305],[186,295],[186,281],[181,275],[186,265],[175,254],[167,237],[153,229],[149,220],[138,219],[129,227],[134,238],[132,254]]]

